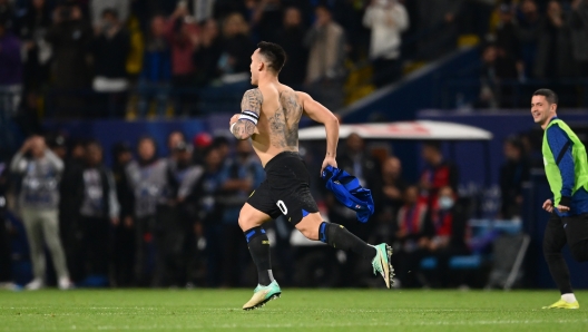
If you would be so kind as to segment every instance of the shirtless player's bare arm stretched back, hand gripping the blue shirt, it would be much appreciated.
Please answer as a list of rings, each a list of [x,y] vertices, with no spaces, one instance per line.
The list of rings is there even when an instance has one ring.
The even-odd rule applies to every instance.
[[[321,105],[321,102],[314,100],[308,94],[297,92],[302,101],[304,114],[311,119],[321,123],[325,126],[326,131],[326,155],[321,167],[321,174],[323,169],[331,165],[336,167],[336,146],[339,143],[339,120],[331,110]]]

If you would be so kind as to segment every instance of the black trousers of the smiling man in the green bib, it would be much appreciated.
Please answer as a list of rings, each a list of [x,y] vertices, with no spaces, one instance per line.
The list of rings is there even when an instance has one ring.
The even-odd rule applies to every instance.
[[[571,293],[569,271],[561,250],[569,246],[574,260],[588,261],[588,213],[560,217],[556,213],[547,222],[543,236],[543,254],[561,294]]]

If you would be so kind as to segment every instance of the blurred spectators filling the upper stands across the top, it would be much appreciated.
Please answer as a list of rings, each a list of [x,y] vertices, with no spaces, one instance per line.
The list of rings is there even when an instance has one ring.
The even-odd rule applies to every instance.
[[[409,60],[438,59],[474,35],[493,40],[479,104],[509,107],[506,79],[586,76],[587,8],[585,0],[0,0],[1,104],[10,114],[51,107],[61,117],[196,115],[198,89],[244,79],[256,42],[267,40],[288,53],[283,82],[339,109],[351,70],[370,64],[381,87]],[[546,70],[551,60],[557,70]]]

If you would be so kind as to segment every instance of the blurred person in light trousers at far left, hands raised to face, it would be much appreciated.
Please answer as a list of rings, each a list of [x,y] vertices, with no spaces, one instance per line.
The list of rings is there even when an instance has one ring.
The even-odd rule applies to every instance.
[[[19,207],[27,230],[33,280],[27,290],[45,286],[45,248],[49,247],[61,290],[71,287],[61,240],[59,238],[59,180],[63,162],[46,145],[45,138],[32,136],[12,158],[10,170],[21,175]]]

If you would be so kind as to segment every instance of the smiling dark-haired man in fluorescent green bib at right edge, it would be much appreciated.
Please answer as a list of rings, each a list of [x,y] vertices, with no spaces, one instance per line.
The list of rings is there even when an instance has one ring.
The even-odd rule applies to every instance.
[[[543,164],[553,197],[543,203],[551,214],[543,237],[543,254],[561,299],[543,309],[579,309],[571,290],[566,261],[568,243],[578,262],[588,261],[588,162],[584,144],[557,115],[558,96],[549,89],[535,91],[531,115],[543,134]]]

